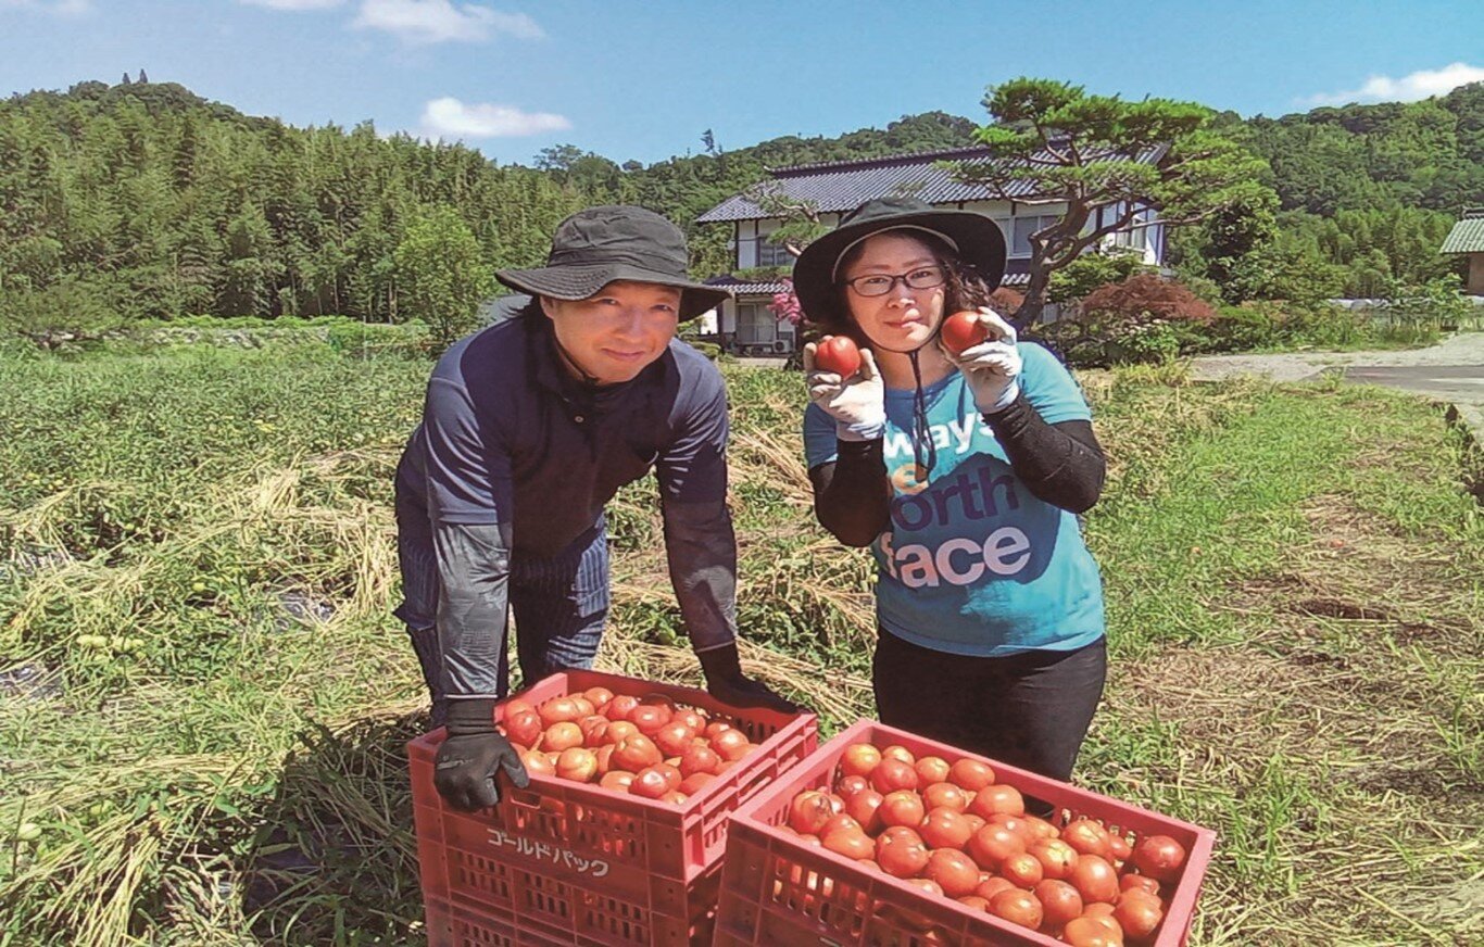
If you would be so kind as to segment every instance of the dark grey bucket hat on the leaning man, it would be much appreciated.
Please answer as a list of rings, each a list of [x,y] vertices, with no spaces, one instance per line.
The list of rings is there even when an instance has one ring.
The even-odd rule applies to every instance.
[[[644,208],[607,205],[558,224],[546,266],[496,276],[512,289],[556,300],[585,300],[617,279],[675,286],[684,322],[732,295],[690,279],[689,263],[680,227]]]

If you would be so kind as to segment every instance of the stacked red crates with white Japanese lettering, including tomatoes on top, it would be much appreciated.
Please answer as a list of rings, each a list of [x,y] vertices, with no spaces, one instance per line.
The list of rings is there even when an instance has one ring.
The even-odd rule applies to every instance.
[[[812,714],[564,671],[496,707],[531,784],[448,806],[444,732],[408,744],[429,944],[706,940],[727,821],[818,742]]]

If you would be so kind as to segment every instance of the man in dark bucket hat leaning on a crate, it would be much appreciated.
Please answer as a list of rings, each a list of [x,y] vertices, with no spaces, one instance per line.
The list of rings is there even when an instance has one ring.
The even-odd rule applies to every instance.
[[[494,805],[502,769],[525,785],[493,721],[508,689],[506,613],[527,683],[591,668],[608,612],[604,505],[650,469],[708,690],[735,707],[792,710],[738,659],[726,389],[715,365],[675,338],[726,292],[693,282],[686,264],[684,235],[657,214],[573,214],[545,267],[499,273],[531,303],[456,343],[433,370],[396,474],[396,615],[433,723],[448,726],[435,782],[454,806]]]

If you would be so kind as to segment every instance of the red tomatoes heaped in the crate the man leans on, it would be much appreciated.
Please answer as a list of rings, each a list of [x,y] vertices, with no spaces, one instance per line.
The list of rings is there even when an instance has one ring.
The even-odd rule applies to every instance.
[[[496,710],[496,723],[530,773],[674,805],[754,750],[732,720],[665,695],[637,698],[607,687],[539,707],[515,698]]]

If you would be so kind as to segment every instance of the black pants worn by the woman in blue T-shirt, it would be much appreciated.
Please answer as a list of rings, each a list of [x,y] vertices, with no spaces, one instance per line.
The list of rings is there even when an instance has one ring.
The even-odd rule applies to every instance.
[[[1106,675],[1106,638],[1074,652],[965,658],[881,631],[871,663],[881,723],[1061,781]]]

